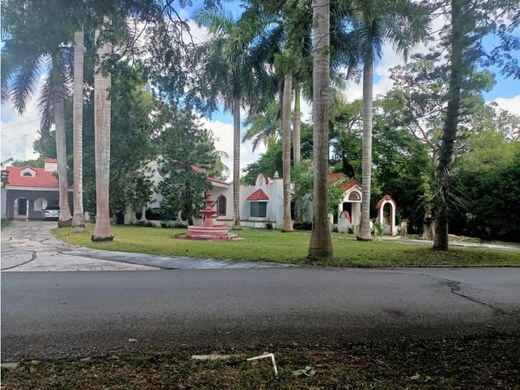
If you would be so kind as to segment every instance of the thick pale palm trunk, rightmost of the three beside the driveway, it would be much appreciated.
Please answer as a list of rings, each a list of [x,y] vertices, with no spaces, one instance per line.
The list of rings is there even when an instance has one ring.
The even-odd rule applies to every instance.
[[[98,36],[96,31],[96,38]],[[97,39],[96,39],[97,40]],[[112,47],[104,43],[99,50],[99,60],[102,62],[110,53]],[[108,91],[111,85],[110,74],[103,74],[98,65],[94,75],[94,130],[95,130],[95,161],[96,161],[96,227],[92,241],[111,241],[110,227],[110,113],[111,102]]]

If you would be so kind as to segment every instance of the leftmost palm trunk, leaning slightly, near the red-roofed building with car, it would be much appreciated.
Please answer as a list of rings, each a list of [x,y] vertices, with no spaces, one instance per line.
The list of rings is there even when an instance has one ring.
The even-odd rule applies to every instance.
[[[60,83],[60,81],[58,81]],[[67,144],[65,140],[65,108],[63,103],[63,84],[55,87],[54,123],[56,125],[56,157],[58,160],[58,179],[60,197],[60,217],[58,226],[70,226],[72,215],[69,207],[69,186],[67,182]]]

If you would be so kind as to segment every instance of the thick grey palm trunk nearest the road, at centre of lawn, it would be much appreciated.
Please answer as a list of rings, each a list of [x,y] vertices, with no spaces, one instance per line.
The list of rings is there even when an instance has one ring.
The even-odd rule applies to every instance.
[[[332,257],[327,187],[329,173],[330,0],[313,0],[314,224],[309,259]]]

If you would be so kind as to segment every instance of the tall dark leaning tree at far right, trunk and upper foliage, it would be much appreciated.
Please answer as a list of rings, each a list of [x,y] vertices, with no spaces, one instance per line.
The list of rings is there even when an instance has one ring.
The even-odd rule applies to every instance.
[[[435,238],[433,249],[448,249],[448,222],[451,189],[451,168],[454,142],[457,137],[464,92],[471,88],[468,76],[477,63],[495,65],[506,76],[520,78],[518,60],[511,53],[520,48],[520,39],[514,35],[520,24],[517,0],[451,0],[441,9],[449,11],[448,33],[443,47],[448,50],[447,69],[448,104],[439,148],[436,172]],[[498,43],[491,51],[481,44],[487,35],[495,35]]]

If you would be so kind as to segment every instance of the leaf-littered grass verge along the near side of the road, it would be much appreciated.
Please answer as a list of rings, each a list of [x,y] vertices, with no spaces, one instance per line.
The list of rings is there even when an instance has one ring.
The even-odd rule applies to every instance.
[[[245,357],[261,351],[248,351]],[[6,389],[490,389],[520,383],[520,335],[281,349],[268,361],[194,361],[186,352],[22,362]]]

